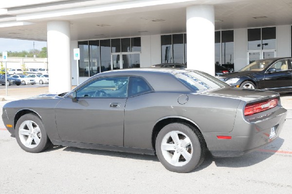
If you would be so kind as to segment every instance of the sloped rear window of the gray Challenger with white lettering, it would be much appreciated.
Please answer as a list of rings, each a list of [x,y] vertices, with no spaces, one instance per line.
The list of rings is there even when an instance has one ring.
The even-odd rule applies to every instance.
[[[209,91],[228,86],[225,82],[203,72],[180,72],[175,74],[175,76],[195,92]]]

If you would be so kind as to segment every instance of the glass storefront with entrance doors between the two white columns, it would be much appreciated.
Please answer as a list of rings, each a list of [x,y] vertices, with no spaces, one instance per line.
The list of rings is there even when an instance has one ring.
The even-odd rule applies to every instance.
[[[79,41],[78,47],[79,77],[91,77],[111,69],[140,68],[141,37]],[[122,56],[122,53],[129,54]],[[123,61],[120,57],[124,57]]]

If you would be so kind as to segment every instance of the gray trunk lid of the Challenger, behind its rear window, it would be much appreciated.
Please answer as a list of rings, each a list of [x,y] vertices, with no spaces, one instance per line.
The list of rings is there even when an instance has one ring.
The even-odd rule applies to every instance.
[[[248,89],[248,88],[236,88],[236,87],[226,87],[207,93],[208,95],[220,96],[225,98],[233,98],[245,101],[247,103],[252,103],[254,101],[277,98],[278,93],[273,91],[264,91],[259,89]]]

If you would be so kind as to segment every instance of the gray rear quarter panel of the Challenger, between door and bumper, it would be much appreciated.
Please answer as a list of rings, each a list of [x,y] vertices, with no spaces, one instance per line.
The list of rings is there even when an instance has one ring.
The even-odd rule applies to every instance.
[[[204,132],[232,131],[234,119],[230,118],[235,118],[240,100],[187,94],[187,103],[181,105],[178,103],[180,95],[182,93],[153,92],[128,98],[124,146],[152,148],[153,127],[163,118],[185,118]]]

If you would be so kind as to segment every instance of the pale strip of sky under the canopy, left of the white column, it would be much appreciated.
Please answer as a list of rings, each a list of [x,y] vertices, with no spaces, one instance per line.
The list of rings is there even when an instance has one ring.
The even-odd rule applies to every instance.
[[[3,51],[30,51],[34,49],[34,42],[35,49],[39,51],[41,51],[41,48],[47,47],[47,42],[42,41],[0,38],[0,53],[2,53]]]

